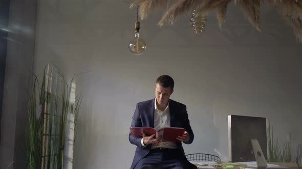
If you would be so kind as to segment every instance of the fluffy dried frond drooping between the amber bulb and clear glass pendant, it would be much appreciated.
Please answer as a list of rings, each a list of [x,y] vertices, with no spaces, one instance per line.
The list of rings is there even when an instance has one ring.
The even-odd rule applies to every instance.
[[[198,7],[198,5],[201,3],[203,3],[203,1],[180,0],[179,3],[168,9],[158,24],[162,26],[166,21],[168,21],[170,24],[173,24],[176,21],[177,16],[192,10],[192,8]]]

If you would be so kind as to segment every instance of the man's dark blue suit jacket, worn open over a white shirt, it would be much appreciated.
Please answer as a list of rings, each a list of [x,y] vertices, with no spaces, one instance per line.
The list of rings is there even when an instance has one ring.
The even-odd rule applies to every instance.
[[[154,128],[154,102],[155,100],[147,100],[144,102],[139,102],[136,105],[136,109],[132,118],[131,127],[153,127]],[[169,101],[169,111],[170,111],[170,126],[171,127],[183,127],[189,133],[190,139],[186,144],[191,144],[194,139],[194,134],[190,126],[188,119],[186,105],[176,102],[174,100]],[[134,137],[132,133],[129,133],[129,140],[131,144],[136,145],[134,159],[131,168],[144,158],[151,149],[151,145],[147,147],[141,146],[142,137]],[[186,160],[184,150],[181,142],[177,142],[177,146],[180,149],[180,156]]]

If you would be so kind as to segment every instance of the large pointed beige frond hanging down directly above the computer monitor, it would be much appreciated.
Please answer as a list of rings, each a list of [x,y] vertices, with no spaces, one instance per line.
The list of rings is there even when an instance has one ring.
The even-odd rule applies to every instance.
[[[250,23],[260,29],[260,0],[238,0],[236,4],[241,8],[242,12],[247,16]]]

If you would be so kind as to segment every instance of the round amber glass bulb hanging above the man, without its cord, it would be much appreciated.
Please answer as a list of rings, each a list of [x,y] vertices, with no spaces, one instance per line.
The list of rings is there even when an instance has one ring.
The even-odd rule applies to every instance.
[[[135,55],[140,55],[147,48],[146,42],[139,37],[139,33],[135,33],[135,39],[129,42],[129,50]]]

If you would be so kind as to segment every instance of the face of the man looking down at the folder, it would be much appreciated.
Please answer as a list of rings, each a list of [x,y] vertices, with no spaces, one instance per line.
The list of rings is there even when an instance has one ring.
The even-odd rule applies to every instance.
[[[166,106],[169,102],[169,98],[174,90],[171,90],[171,87],[164,88],[156,83],[155,86],[155,98],[159,105]]]

